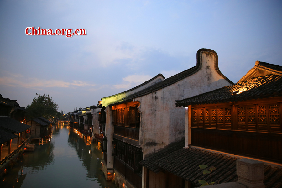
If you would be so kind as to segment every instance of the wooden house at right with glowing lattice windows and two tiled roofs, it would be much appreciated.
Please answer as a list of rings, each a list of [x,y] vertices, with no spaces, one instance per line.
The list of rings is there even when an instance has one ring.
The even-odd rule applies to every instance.
[[[282,187],[282,66],[257,61],[236,84],[175,102],[185,140],[140,162],[144,187],[200,186],[211,181],[203,164],[217,168],[216,184],[236,182],[239,158],[262,161],[265,187]]]

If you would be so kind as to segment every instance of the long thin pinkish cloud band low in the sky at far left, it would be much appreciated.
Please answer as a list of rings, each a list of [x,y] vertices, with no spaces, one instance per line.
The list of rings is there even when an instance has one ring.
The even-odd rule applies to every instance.
[[[20,74],[8,73],[8,76],[0,77],[0,84],[12,87],[26,87],[26,88],[38,88],[38,87],[70,87],[70,86],[95,86],[95,84],[89,84],[86,81],[72,81],[65,82],[61,80],[46,80],[26,77]]]

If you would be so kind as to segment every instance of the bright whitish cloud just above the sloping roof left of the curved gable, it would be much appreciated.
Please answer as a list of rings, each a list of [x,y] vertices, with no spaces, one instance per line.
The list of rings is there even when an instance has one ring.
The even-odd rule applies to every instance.
[[[113,85],[116,89],[129,89],[142,84],[143,82],[150,80],[150,75],[129,75],[123,78],[122,84]]]

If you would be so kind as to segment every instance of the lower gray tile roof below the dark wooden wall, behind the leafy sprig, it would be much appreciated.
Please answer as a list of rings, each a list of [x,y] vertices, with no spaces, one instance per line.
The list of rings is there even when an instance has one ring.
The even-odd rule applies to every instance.
[[[195,148],[184,149],[184,146],[185,140],[170,144],[167,148],[142,160],[140,164],[155,173],[160,171],[170,172],[198,186],[201,185],[198,180],[211,182],[210,176],[208,174],[204,175],[199,165],[217,168],[212,172],[212,181],[215,184],[236,182],[238,180],[236,157]],[[266,188],[281,187],[282,169],[264,165],[264,184]]]

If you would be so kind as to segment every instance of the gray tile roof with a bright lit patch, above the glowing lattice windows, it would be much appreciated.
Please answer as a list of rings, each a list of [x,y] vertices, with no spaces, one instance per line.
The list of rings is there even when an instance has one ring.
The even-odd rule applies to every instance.
[[[233,93],[239,91],[239,93]],[[235,102],[258,98],[282,96],[282,76],[266,75],[238,82],[232,86],[209,91],[194,97],[177,100],[176,106]]]

